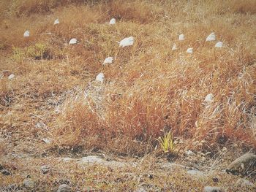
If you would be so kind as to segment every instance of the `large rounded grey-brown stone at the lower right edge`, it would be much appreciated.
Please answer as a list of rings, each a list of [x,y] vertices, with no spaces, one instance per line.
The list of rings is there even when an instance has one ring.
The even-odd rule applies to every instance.
[[[246,153],[227,166],[227,173],[250,174],[256,170],[256,155]]]

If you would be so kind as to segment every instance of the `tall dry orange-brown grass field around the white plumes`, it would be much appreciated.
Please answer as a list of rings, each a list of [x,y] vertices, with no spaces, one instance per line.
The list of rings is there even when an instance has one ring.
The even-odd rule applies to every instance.
[[[182,159],[192,150],[212,159],[227,147],[230,160],[255,151],[255,0],[3,0],[0,11],[0,164],[13,154],[41,164],[45,154]],[[125,37],[134,44],[118,47]],[[189,189],[181,183],[167,190]]]

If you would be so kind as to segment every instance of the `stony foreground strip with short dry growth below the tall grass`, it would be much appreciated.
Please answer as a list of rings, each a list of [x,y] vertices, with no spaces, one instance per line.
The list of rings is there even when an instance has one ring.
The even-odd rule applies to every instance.
[[[59,192],[254,191],[256,155],[246,153],[230,164],[235,150],[224,147],[212,158],[192,151],[143,158],[75,150],[13,153],[1,158],[0,187],[1,191]]]

